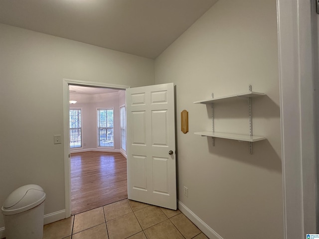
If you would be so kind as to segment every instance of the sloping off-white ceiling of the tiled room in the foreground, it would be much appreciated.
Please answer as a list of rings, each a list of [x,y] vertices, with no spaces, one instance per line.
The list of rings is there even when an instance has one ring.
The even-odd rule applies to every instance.
[[[156,58],[217,0],[0,0],[0,22]]]

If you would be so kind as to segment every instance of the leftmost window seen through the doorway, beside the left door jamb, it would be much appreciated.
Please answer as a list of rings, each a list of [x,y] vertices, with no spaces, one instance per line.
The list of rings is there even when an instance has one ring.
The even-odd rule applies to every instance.
[[[70,148],[82,147],[81,109],[70,110]]]

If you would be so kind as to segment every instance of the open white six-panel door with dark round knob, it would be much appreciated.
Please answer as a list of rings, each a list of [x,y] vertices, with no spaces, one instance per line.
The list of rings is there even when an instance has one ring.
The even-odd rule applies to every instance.
[[[176,210],[173,83],[126,90],[128,197]]]

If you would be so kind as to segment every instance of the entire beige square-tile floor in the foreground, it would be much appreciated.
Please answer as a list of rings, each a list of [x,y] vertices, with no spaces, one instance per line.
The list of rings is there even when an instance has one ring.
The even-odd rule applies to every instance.
[[[43,239],[208,239],[179,210],[128,199],[47,224]]]

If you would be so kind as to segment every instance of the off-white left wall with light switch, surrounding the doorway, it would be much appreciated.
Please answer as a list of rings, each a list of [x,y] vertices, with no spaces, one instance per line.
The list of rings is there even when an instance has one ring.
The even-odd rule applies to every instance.
[[[63,144],[53,144],[63,134],[63,78],[152,85],[154,60],[0,24],[0,205],[38,184],[44,214],[65,209]]]

